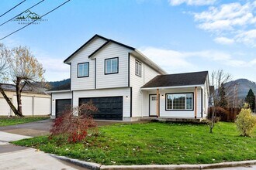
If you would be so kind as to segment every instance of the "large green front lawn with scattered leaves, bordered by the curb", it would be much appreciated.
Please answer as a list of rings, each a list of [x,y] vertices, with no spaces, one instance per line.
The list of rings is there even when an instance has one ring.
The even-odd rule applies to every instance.
[[[41,151],[104,165],[205,164],[256,159],[254,138],[240,137],[234,123],[114,124],[84,143],[49,141],[47,136],[13,142]]]

